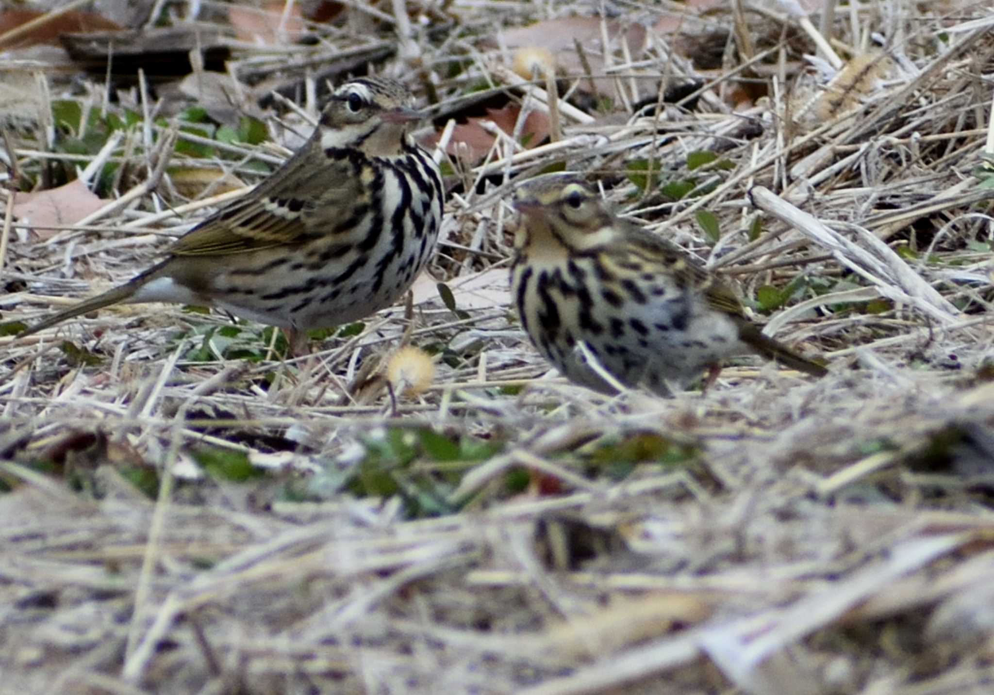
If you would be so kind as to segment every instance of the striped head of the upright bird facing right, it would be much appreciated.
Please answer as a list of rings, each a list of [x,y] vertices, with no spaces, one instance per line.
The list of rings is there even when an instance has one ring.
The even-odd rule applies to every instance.
[[[371,157],[403,153],[411,124],[424,117],[408,87],[386,77],[358,77],[335,89],[321,113],[321,147],[355,148]]]

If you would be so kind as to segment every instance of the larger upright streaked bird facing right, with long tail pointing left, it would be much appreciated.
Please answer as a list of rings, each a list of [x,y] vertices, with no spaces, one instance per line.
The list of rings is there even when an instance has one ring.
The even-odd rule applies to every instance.
[[[130,281],[21,333],[120,302],[210,305],[287,330],[358,321],[396,302],[430,255],[444,192],[414,143],[422,113],[399,82],[362,77],[335,90],[307,142],[245,198],[180,237]]]

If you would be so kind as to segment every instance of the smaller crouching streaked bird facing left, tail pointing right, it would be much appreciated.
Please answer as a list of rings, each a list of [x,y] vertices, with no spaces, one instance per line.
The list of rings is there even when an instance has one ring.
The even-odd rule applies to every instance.
[[[739,354],[826,373],[763,336],[732,290],[683,249],[611,214],[576,178],[528,181],[514,206],[523,215],[511,270],[518,315],[571,381],[617,392],[587,354],[620,384],[667,396],[670,384],[685,388],[706,368],[717,376]]]

